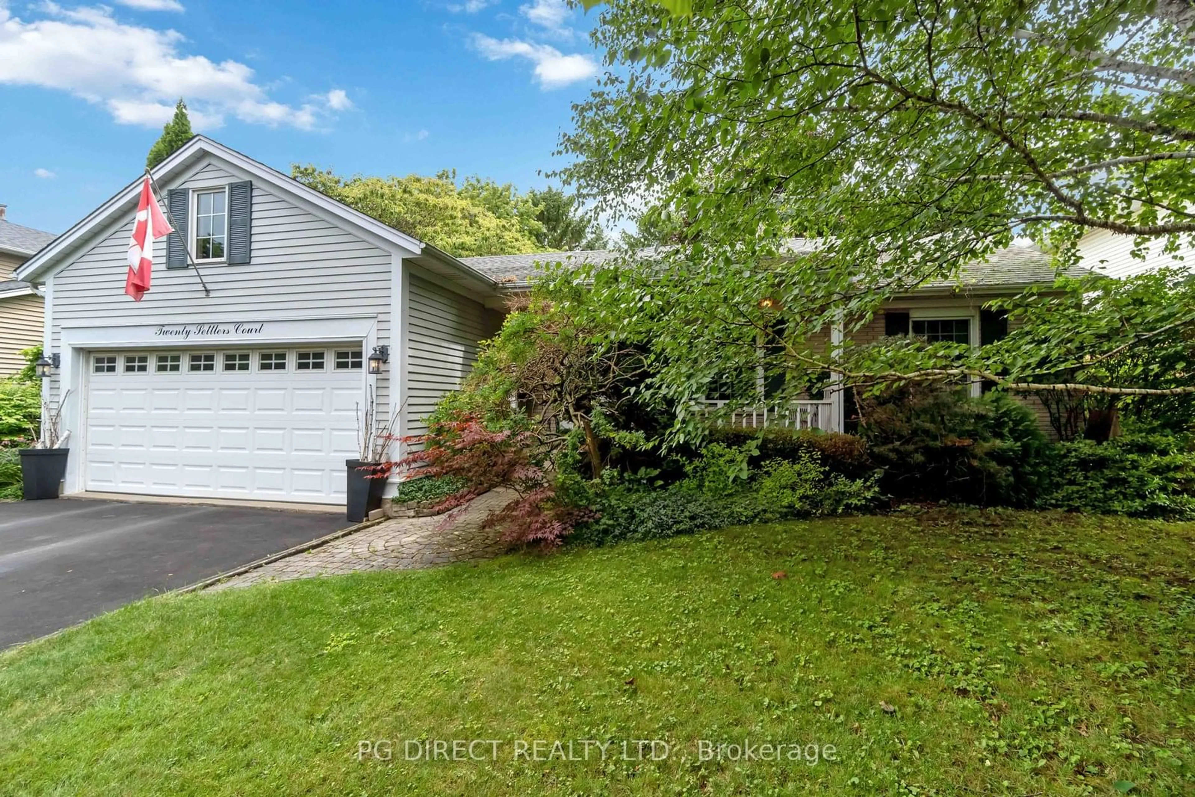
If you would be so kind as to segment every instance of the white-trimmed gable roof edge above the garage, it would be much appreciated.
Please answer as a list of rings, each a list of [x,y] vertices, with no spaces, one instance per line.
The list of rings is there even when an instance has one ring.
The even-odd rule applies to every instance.
[[[314,211],[317,215],[336,217],[343,226],[354,229],[357,234],[361,234],[382,249],[407,253],[413,262],[433,270],[440,276],[454,280],[473,290],[494,292],[494,280],[461,263],[451,255],[385,225],[373,216],[350,208],[343,202],[320,194],[293,177],[270,168],[265,164],[258,163],[207,136],[197,135],[192,137],[166,158],[166,160],[154,166],[152,170],[153,178],[159,185],[168,183],[173,177],[186,173],[194,164],[206,157],[223,160],[241,172],[250,174],[255,180],[261,180],[271,186],[275,192],[290,200],[299,207]],[[94,231],[125,215],[131,216],[140,197],[142,177],[143,174],[139,174],[136,179],[115,194],[104,204],[54,239],[49,246],[45,246],[26,260],[14,276],[18,280],[27,282],[41,282],[47,276],[69,265],[72,256],[87,247],[91,243]]]

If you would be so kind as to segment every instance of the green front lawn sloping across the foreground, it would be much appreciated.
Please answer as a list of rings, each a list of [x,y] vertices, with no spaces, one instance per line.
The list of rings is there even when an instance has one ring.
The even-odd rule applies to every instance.
[[[932,510],[146,600],[0,656],[0,792],[1193,793],[1193,542]]]

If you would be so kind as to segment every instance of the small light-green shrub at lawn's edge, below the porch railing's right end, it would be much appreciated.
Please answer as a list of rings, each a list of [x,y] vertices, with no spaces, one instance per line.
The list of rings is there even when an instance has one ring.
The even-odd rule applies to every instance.
[[[780,517],[841,515],[872,509],[881,498],[876,478],[847,479],[829,473],[811,453],[796,460],[764,462],[755,483],[758,505]]]

